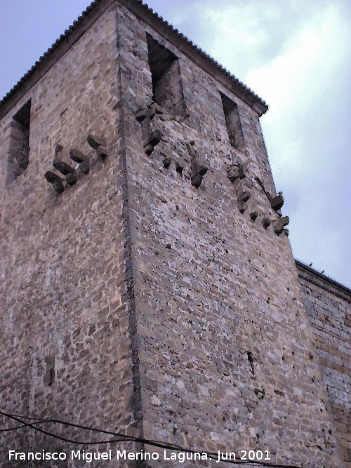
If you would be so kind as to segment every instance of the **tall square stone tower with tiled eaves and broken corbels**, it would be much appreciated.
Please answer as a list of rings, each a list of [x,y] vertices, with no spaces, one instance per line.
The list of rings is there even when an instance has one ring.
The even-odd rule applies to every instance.
[[[3,408],[192,450],[269,450],[272,464],[344,466],[266,111],[138,0],[95,0],[6,95]],[[9,461],[11,449],[77,450],[29,428],[0,438],[2,468],[57,466]],[[113,460],[93,466],[197,466],[107,448]]]

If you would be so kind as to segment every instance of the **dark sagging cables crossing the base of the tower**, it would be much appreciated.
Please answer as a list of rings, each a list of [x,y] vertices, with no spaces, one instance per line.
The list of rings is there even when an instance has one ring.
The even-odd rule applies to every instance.
[[[143,445],[148,445],[148,446],[154,446],[157,448],[163,448],[164,450],[173,450],[173,451],[178,451],[178,452],[183,452],[183,453],[203,453],[206,454],[207,457],[210,460],[218,460],[218,454],[212,453],[212,452],[204,452],[201,450],[190,450],[187,448],[183,448],[180,446],[173,445],[171,443],[166,443],[166,442],[160,442],[160,441],[152,441],[148,439],[143,439],[139,437],[133,437],[133,436],[128,436],[126,434],[119,434],[117,432],[110,432],[110,431],[105,431],[104,429],[97,429],[95,427],[88,427],[88,426],[82,426],[81,424],[73,424],[72,422],[65,422],[62,420],[46,420],[46,419],[39,419],[37,417],[29,417],[29,416],[23,416],[23,415],[18,415],[15,413],[8,413],[8,410],[3,410],[0,409],[0,415],[3,415],[5,417],[8,417],[11,420],[15,420],[16,422],[20,422],[22,425],[17,426],[17,427],[11,427],[8,429],[0,429],[0,432],[9,432],[9,431],[14,431],[18,429],[22,429],[24,427],[29,427],[29,429],[33,429],[34,431],[40,432],[41,434],[45,434],[47,436],[51,436],[55,439],[58,439],[63,442],[67,443],[73,443],[75,445],[82,445],[82,446],[88,446],[88,445],[100,445],[102,443],[120,443],[120,442],[136,442],[136,443],[141,443]],[[6,412],[5,412],[6,411]],[[25,422],[24,419],[29,419],[34,422]],[[110,436],[115,436],[118,437],[119,439],[110,439],[108,441],[77,441],[74,439],[67,439],[67,437],[59,436],[58,434],[53,434],[52,432],[48,432],[44,429],[41,429],[40,427],[37,427],[37,424],[47,424],[47,423],[52,423],[52,424],[62,424],[64,426],[69,426],[69,427],[74,427],[77,429],[83,429],[85,431],[91,431],[91,432],[98,432],[100,434],[107,434]],[[263,461],[258,461],[258,460],[220,460],[222,462],[226,462],[229,464],[241,464],[241,465],[256,465],[259,467],[268,467],[268,468],[300,468],[297,467],[296,465],[286,465],[286,464],[272,464],[272,463],[267,463]]]

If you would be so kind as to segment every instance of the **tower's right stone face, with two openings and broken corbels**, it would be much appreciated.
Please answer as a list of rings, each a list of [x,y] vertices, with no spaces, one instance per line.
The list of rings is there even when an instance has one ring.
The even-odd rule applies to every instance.
[[[256,180],[274,189],[257,114],[125,8],[119,25],[145,437],[342,466],[289,241],[262,224],[277,214]],[[162,135],[153,152],[145,29],[178,56],[187,106],[184,119],[151,112]],[[243,152],[230,145],[220,92],[237,103]],[[208,168],[198,188],[196,153]],[[244,213],[226,172],[236,159],[248,163]]]

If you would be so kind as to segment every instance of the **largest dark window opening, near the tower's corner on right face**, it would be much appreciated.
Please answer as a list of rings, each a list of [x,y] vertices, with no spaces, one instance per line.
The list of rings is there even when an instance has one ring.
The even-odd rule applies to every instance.
[[[147,34],[154,102],[174,116],[185,115],[185,100],[179,60]]]

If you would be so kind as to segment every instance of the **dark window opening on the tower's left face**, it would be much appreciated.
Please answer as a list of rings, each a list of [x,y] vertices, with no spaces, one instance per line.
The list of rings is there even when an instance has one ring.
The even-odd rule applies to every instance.
[[[18,178],[29,162],[30,100],[13,116],[10,129],[8,182]]]

